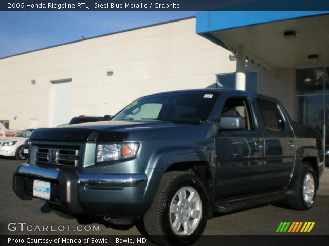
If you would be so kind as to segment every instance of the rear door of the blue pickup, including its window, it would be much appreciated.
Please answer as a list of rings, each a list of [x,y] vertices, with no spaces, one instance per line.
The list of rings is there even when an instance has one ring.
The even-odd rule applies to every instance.
[[[290,122],[277,101],[258,98],[265,140],[263,191],[285,189],[293,172],[296,140]]]

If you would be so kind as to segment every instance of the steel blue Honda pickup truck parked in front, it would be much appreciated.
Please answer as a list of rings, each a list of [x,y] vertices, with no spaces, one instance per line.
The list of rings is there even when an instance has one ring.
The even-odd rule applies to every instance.
[[[199,89],[141,97],[112,121],[35,130],[13,189],[112,223],[142,219],[160,245],[193,243],[214,212],[286,200],[308,210],[324,170],[321,135],[278,100]]]

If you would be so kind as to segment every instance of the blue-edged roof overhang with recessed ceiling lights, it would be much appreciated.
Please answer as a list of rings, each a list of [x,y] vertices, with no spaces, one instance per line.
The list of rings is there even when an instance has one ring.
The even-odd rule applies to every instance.
[[[199,12],[196,32],[261,68],[329,64],[329,12]],[[294,38],[284,33],[293,31]],[[309,55],[318,55],[310,60]],[[250,63],[249,59],[249,63]],[[315,62],[315,63],[314,63]]]

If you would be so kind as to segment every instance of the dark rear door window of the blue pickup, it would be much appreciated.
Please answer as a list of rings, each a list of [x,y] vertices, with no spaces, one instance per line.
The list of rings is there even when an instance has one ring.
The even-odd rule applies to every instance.
[[[258,108],[267,131],[283,131],[284,120],[278,104],[272,101],[257,99]]]

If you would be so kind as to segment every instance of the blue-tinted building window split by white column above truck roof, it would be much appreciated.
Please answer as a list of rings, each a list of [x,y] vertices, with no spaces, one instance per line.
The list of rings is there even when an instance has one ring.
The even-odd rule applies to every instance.
[[[257,72],[246,73],[246,91],[257,93]],[[235,89],[235,73],[218,74],[216,88]]]

